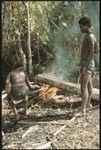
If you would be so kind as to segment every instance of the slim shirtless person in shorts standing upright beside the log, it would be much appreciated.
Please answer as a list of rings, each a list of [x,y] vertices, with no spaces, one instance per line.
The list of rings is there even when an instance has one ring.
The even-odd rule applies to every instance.
[[[75,113],[75,116],[86,115],[86,109],[92,107],[92,71],[95,67],[93,54],[96,44],[96,38],[91,31],[91,19],[89,17],[82,17],[79,21],[79,27],[83,34],[85,34],[80,60],[80,74],[81,74],[81,96],[82,105],[80,110]]]

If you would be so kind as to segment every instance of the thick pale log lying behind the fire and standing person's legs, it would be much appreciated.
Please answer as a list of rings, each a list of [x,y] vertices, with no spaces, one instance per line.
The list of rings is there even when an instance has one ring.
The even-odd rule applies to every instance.
[[[45,84],[50,84],[59,89],[65,90],[67,92],[81,95],[80,85],[76,83],[58,81],[51,77],[46,77],[45,75],[37,75],[36,80]],[[93,88],[92,99],[99,101],[99,89]]]

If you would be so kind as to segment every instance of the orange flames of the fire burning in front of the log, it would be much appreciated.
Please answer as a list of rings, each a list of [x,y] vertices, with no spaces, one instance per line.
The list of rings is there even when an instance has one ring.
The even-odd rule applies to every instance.
[[[45,101],[56,95],[57,88],[48,84],[43,84],[40,88],[39,97]]]

